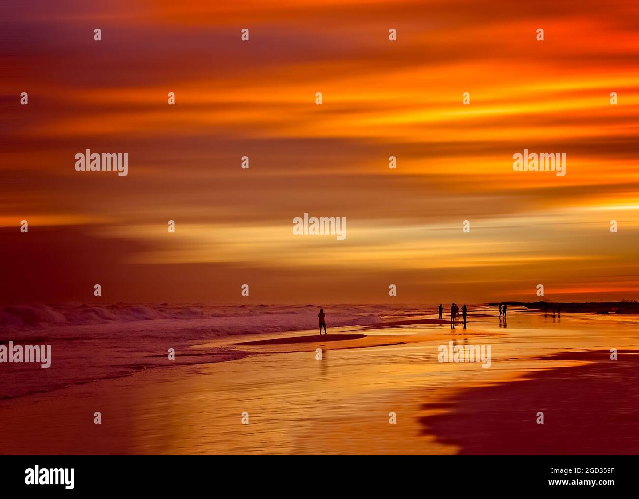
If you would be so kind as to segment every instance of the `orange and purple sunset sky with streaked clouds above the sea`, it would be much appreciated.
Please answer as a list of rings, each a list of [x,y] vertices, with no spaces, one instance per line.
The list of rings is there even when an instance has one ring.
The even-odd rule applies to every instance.
[[[639,298],[636,1],[12,3],[3,303]]]

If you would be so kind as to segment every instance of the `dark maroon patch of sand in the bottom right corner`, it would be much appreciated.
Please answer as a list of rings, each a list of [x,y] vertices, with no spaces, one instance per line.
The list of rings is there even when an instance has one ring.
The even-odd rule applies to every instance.
[[[554,355],[548,358],[588,364],[459,392],[436,404],[445,414],[422,418],[424,433],[459,454],[639,454],[639,350],[610,355]]]

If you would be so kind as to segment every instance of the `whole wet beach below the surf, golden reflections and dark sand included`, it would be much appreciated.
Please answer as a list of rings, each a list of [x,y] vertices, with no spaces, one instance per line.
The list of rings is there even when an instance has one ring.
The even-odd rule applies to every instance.
[[[209,334],[203,329],[197,339],[176,335],[184,346],[176,349],[175,364],[160,355],[158,339],[147,342],[139,353],[148,358],[153,355],[149,345],[157,346],[152,362],[134,362],[132,331],[143,331],[142,325],[106,324],[107,330],[126,328],[129,335],[129,342],[119,346],[118,355],[125,359],[116,371],[121,365],[139,369],[114,375],[107,367],[115,358],[109,357],[107,367],[91,368],[92,373],[104,372],[102,378],[58,383],[37,392],[33,380],[47,369],[22,366],[31,369],[33,380],[29,390],[3,384],[0,424],[8,431],[0,450],[3,454],[636,454],[639,450],[636,438],[618,435],[622,431],[635,436],[639,429],[639,397],[633,392],[636,316],[553,317],[511,307],[504,324],[496,307],[482,305],[469,307],[466,330],[461,325],[451,330],[434,310],[373,309],[380,313],[373,316],[362,307],[357,317],[349,318],[344,312],[341,319],[351,324],[332,327],[327,308],[328,335],[321,337],[314,329],[247,334],[243,328],[235,330],[238,334],[217,336],[210,334],[211,328]],[[277,312],[293,316],[298,310]],[[154,320],[167,321],[167,328],[178,321],[156,318],[144,327]],[[215,324],[210,317],[201,320]],[[66,326],[67,331],[69,327],[98,328],[73,325]],[[31,336],[38,336],[36,330]],[[79,348],[65,358],[75,362],[76,378],[82,362],[100,357],[95,353],[100,343],[95,341],[93,355],[85,351],[82,357]],[[450,342],[461,348],[491,346],[490,366],[440,362],[439,348]],[[56,345],[52,342],[51,370],[56,367]],[[610,359],[612,348],[618,350],[618,360]],[[180,357],[183,351],[186,359]],[[544,413],[544,424],[537,424],[539,411]],[[96,412],[101,424],[94,423]],[[390,424],[393,418],[395,424]]]

